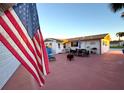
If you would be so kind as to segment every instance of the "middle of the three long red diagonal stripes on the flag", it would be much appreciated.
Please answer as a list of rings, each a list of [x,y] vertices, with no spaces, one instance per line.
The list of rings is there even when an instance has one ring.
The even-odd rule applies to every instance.
[[[9,36],[13,39],[13,41],[18,45],[18,47],[21,49],[23,54],[27,57],[27,59],[31,62],[31,64],[35,67],[36,71],[38,72],[38,75],[40,77],[40,80],[44,82],[43,78],[39,74],[39,70],[36,66],[36,63],[32,59],[32,57],[28,54],[28,52],[25,50],[25,48],[22,46],[21,42],[18,40],[18,38],[15,36],[15,34],[12,32],[12,30],[8,27],[8,25],[4,22],[4,20],[0,17],[0,23],[1,26],[5,29],[5,31],[9,34]]]

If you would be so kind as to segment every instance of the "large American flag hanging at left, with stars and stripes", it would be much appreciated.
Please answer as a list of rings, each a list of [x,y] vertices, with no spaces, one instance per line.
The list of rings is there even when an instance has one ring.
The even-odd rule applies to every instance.
[[[42,86],[49,64],[36,4],[19,3],[4,11],[0,16],[0,41]]]

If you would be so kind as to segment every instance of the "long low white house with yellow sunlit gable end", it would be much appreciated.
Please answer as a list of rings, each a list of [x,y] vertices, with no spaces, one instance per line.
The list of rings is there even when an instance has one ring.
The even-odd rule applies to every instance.
[[[109,34],[76,37],[66,40],[68,40],[68,42],[65,43],[66,49],[86,49],[91,52],[95,48],[97,54],[108,52],[110,47]]]

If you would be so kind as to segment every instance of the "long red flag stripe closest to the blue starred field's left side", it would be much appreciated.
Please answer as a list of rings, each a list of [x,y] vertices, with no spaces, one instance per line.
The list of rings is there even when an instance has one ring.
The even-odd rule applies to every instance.
[[[33,49],[33,47],[31,46],[29,40],[26,38],[25,34],[23,33],[22,29],[20,28],[20,26],[18,25],[18,23],[16,22],[15,18],[11,15],[11,13],[9,11],[6,11],[5,13],[7,15],[7,17],[10,19],[10,21],[13,23],[13,25],[16,25],[16,29],[18,30],[19,35],[22,37],[22,39],[24,40],[24,42],[27,44],[27,47],[30,49],[29,51],[31,51],[33,53],[32,58],[34,58],[35,56],[35,61],[38,61],[37,57],[36,57],[36,53]],[[23,41],[22,40],[22,41]],[[29,54],[32,54],[29,53]],[[40,70],[43,72],[43,68],[41,65],[38,64],[38,67],[40,68]]]

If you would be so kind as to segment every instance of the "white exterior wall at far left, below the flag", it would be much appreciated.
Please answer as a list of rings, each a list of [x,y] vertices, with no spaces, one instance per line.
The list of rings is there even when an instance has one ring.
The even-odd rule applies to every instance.
[[[20,62],[0,42],[0,89],[19,67]]]

